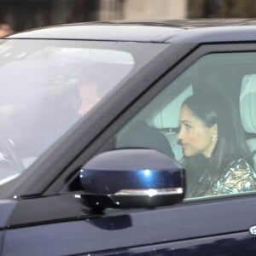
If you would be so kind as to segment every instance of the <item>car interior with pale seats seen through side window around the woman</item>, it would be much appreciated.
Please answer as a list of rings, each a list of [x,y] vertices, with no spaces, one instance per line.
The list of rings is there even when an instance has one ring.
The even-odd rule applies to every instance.
[[[256,73],[253,55],[248,53],[224,53],[206,55],[189,67],[180,77],[169,84],[160,95],[137,113],[116,137],[116,148],[143,147],[143,143],[132,142],[132,137],[141,137],[134,128],[143,120],[148,126],[162,133],[172,148],[177,161],[183,159],[183,150],[178,144],[178,116],[185,98],[201,91],[216,90],[235,106],[241,117],[241,125],[247,145],[256,166]],[[201,74],[204,74],[203,76]],[[228,127],[227,127],[228,129]],[[127,139],[129,138],[129,140]],[[148,136],[150,138],[150,136]],[[152,148],[165,152],[159,145]]]

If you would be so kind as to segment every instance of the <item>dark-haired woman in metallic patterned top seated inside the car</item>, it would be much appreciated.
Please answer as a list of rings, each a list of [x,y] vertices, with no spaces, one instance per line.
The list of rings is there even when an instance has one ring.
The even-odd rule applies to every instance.
[[[253,159],[238,113],[223,96],[189,96],[183,102],[179,123],[187,197],[256,189]]]

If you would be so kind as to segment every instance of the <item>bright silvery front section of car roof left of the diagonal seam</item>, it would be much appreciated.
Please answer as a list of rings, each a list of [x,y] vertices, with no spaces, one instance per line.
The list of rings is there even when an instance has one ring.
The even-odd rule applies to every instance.
[[[42,31],[22,32],[10,38],[55,38],[103,41],[162,43],[163,39],[182,31],[158,26],[57,26]],[[67,35],[67,37],[65,36]]]

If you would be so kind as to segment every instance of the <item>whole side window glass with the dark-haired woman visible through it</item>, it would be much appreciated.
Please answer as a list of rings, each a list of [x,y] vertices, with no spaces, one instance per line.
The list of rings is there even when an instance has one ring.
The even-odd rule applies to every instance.
[[[255,192],[255,65],[254,52],[201,57],[118,132],[115,148],[177,160],[187,200]]]

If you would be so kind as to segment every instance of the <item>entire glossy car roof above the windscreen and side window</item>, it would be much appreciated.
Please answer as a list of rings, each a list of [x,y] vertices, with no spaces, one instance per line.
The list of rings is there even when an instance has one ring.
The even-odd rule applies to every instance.
[[[9,38],[82,39],[148,43],[255,41],[256,20],[85,22],[19,32]]]

